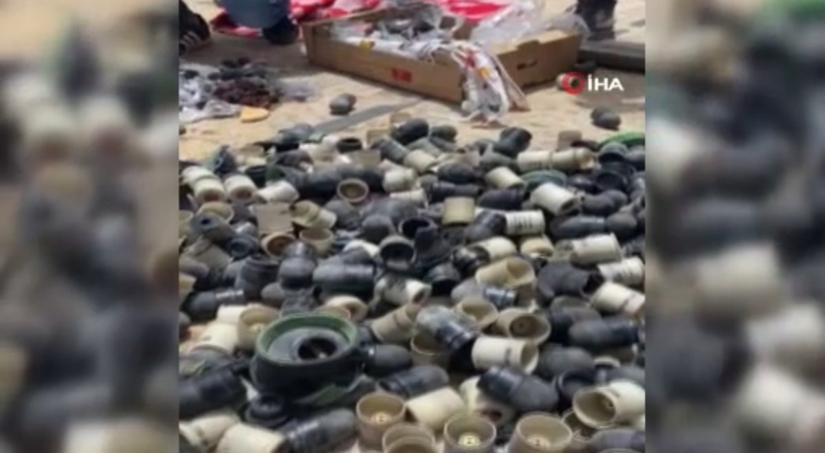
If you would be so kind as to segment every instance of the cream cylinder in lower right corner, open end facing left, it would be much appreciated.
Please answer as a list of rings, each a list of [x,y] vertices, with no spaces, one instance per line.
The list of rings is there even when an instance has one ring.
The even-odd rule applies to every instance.
[[[573,412],[588,427],[633,422],[644,414],[644,389],[626,380],[582,389],[573,397]]]

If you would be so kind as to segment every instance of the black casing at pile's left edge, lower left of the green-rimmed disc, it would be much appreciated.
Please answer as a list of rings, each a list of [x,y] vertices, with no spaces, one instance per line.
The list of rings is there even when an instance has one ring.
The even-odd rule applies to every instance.
[[[181,380],[179,413],[181,420],[243,403],[247,389],[229,367]]]

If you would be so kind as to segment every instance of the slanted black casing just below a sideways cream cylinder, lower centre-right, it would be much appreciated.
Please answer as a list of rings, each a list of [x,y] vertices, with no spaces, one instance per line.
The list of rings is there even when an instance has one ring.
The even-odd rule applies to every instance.
[[[507,402],[519,413],[553,413],[559,405],[553,385],[515,368],[493,366],[481,375],[479,389],[497,401]]]

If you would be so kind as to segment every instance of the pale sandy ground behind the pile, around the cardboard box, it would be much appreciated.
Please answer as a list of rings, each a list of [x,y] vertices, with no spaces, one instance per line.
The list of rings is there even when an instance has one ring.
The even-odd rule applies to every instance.
[[[549,11],[563,11],[568,7],[568,0],[547,0]],[[189,0],[189,6],[206,18],[213,17],[217,8],[212,0]],[[621,40],[643,40],[644,2],[630,0],[617,7],[617,31]],[[259,123],[242,124],[240,120],[207,120],[187,126],[187,133],[181,137],[181,158],[202,158],[221,144],[239,147],[243,144],[267,139],[276,131],[294,124],[308,122],[316,124],[332,119],[328,112],[328,102],[342,92],[350,92],[358,97],[357,109],[370,106],[397,103],[404,100],[420,99],[416,105],[409,107],[413,116],[426,117],[433,123],[450,123],[459,127],[459,139],[469,142],[474,139],[497,136],[497,130],[477,129],[461,123],[461,114],[455,106],[437,101],[421,99],[408,92],[401,92],[378,83],[354,79],[341,73],[330,73],[309,65],[303,54],[303,46],[295,44],[285,47],[269,45],[262,39],[238,38],[227,35],[214,35],[214,41],[186,58],[187,61],[203,64],[218,64],[222,59],[247,56],[265,61],[281,69],[284,78],[300,79],[314,87],[316,94],[309,101],[286,102],[275,106],[271,116]],[[572,96],[560,92],[552,84],[528,90],[530,111],[513,112],[505,116],[507,125],[519,125],[533,133],[534,148],[551,147],[556,135],[561,130],[582,130],[585,137],[602,139],[610,134],[590,125],[590,111],[596,106],[608,106],[620,111],[621,130],[643,130],[644,101],[643,75],[630,73],[600,73],[599,75],[618,75],[625,87],[625,92],[600,93],[598,95]],[[384,127],[387,118],[382,117],[361,125],[354,126],[340,134],[360,135],[366,130]]]

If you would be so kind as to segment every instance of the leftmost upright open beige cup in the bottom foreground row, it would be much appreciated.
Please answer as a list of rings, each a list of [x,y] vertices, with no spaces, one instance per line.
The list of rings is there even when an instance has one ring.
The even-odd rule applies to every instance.
[[[406,403],[397,395],[383,392],[365,394],[356,404],[361,445],[380,448],[384,433],[403,422],[406,413]]]

